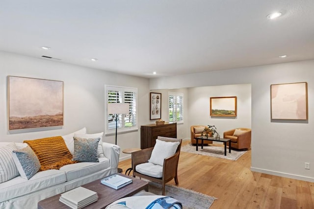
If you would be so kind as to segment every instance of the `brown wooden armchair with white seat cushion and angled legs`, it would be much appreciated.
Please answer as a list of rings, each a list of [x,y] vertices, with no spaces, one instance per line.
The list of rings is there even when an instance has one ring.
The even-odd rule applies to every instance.
[[[142,149],[136,152],[132,152],[132,169],[133,177],[138,176],[140,178],[148,179],[152,182],[157,182],[162,185],[162,195],[165,194],[165,184],[172,179],[175,179],[176,185],[179,184],[178,181],[178,163],[180,156],[180,149],[182,144],[182,139],[168,138],[168,137],[158,137],[157,139],[165,142],[179,142],[176,143],[178,146],[175,153],[170,157],[163,159],[163,164],[154,164],[151,162],[151,156],[153,149],[155,147],[150,147]],[[174,147],[175,149],[175,147]],[[154,151],[155,152],[155,151]],[[155,154],[155,153],[154,153]],[[162,160],[162,159],[161,159]],[[145,174],[144,174],[145,173]]]

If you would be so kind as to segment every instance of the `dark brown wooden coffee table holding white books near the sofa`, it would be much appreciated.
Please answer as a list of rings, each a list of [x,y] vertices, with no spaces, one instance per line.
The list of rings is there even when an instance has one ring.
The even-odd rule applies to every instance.
[[[110,203],[120,198],[132,196],[133,194],[136,194],[143,189],[145,191],[148,191],[148,182],[140,179],[135,179],[131,176],[127,176],[124,174],[119,175],[132,179],[133,182],[130,185],[124,186],[119,189],[114,189],[109,186],[103,185],[100,182],[101,179],[93,181],[86,185],[82,185],[82,187],[88,188],[92,191],[96,191],[98,194],[98,201],[84,207],[84,209],[104,209]],[[61,194],[57,194],[45,200],[39,201],[37,204],[38,209],[69,209],[70,207],[59,201],[60,195]]]

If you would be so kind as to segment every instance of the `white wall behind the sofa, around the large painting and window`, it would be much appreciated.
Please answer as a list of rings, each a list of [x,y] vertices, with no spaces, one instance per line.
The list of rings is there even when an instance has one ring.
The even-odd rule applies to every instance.
[[[8,75],[63,81],[64,125],[8,131]],[[104,132],[107,118],[105,84],[138,88],[138,125],[149,123],[149,79],[0,51],[0,141],[22,142],[26,139],[60,136],[82,127],[86,127],[88,133]],[[115,143],[115,136],[105,136],[104,141]],[[117,141],[121,150],[140,147],[140,131],[118,134]],[[125,156],[129,155],[121,152],[120,159]]]

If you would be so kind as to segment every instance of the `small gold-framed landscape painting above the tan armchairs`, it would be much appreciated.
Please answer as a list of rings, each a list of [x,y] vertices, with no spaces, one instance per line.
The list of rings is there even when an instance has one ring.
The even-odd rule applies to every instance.
[[[210,97],[210,116],[235,117],[236,96]]]

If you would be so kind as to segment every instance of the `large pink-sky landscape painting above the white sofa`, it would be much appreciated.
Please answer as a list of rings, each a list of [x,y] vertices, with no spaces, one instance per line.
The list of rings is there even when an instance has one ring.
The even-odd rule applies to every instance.
[[[63,82],[8,76],[9,130],[63,125]]]

